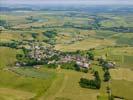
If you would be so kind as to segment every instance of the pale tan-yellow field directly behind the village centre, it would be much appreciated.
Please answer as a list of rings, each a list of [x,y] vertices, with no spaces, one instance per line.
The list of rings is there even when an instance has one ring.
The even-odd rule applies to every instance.
[[[111,40],[100,40],[100,39],[86,39],[83,41],[78,41],[74,44],[57,44],[55,49],[61,51],[76,51],[76,50],[88,50],[90,48],[96,48],[99,46],[114,45],[115,43]]]

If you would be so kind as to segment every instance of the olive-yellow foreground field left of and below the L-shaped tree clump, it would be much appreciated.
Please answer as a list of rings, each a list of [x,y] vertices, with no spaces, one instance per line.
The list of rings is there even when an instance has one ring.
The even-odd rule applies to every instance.
[[[64,78],[61,78],[62,75]],[[62,82],[56,81],[40,100],[97,100],[99,90],[85,89],[79,85],[81,77],[91,78],[91,74],[61,69],[59,77]]]

